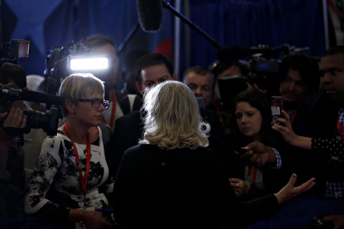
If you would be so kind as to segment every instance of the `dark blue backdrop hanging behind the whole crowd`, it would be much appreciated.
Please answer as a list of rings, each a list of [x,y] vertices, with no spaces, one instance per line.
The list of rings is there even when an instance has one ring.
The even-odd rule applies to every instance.
[[[169,1],[173,3],[173,1]],[[321,0],[189,0],[190,20],[221,45],[270,47],[289,44],[309,46],[321,56],[325,50]],[[88,36],[103,33],[120,45],[137,24],[135,0],[2,0],[1,40],[31,41],[30,57],[19,62],[27,74],[43,75],[45,55],[52,46],[63,46]],[[183,28],[183,27],[182,27]],[[156,50],[159,44],[172,44],[173,15],[163,9],[161,29],[146,33],[141,29],[121,53],[131,48]],[[183,34],[183,33],[182,33]],[[183,43],[184,37],[181,37]],[[160,46],[159,46],[160,47]],[[216,49],[202,36],[191,32],[190,56],[183,55],[179,75],[189,65],[207,66],[215,60]],[[161,51],[172,55],[172,47]],[[186,60],[185,58],[189,58]]]

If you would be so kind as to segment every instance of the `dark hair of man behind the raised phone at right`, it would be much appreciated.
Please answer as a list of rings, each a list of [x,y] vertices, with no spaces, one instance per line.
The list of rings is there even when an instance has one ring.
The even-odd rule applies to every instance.
[[[283,58],[281,62],[281,77],[285,77],[289,70],[297,71],[306,87],[306,93],[317,92],[320,76],[318,62],[303,54],[292,54]]]

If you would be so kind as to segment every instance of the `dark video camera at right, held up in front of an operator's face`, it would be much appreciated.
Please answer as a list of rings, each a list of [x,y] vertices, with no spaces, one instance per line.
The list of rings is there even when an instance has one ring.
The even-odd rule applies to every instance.
[[[295,48],[282,45],[276,48],[260,45],[256,47],[228,46],[217,52],[217,59],[210,67],[215,75],[224,69],[235,66],[241,75],[221,76],[218,78],[221,100],[231,104],[235,95],[247,89],[247,84],[256,84],[266,90],[268,95],[279,94],[282,59],[289,54],[307,54],[309,48]]]

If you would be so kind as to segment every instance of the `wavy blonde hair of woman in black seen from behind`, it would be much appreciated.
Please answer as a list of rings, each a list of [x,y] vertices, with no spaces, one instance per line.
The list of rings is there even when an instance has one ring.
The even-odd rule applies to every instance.
[[[170,80],[148,89],[142,109],[146,111],[144,139],[139,143],[157,143],[164,150],[208,146],[197,100],[184,83]]]

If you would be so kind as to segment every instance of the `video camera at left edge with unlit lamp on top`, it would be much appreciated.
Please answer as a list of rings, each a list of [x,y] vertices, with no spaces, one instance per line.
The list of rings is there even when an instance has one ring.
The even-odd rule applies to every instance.
[[[8,49],[8,57],[0,60],[0,67],[4,62],[18,63],[18,59],[21,57],[29,56],[30,42],[26,40],[11,40],[9,43],[3,43],[2,50]],[[51,103],[55,105],[62,105],[64,99],[59,96],[33,92],[22,91],[15,85],[3,85],[0,84],[0,107],[1,112],[9,111],[11,104],[17,100],[25,100],[39,103]],[[3,120],[0,120],[0,127],[8,134],[19,134],[20,144],[23,144],[23,134],[27,134],[33,129],[43,129],[47,132],[47,135],[56,135],[58,122],[59,122],[59,109],[50,108],[46,112],[40,112],[36,110],[27,110],[23,112],[27,116],[27,126],[24,129],[3,127]]]

